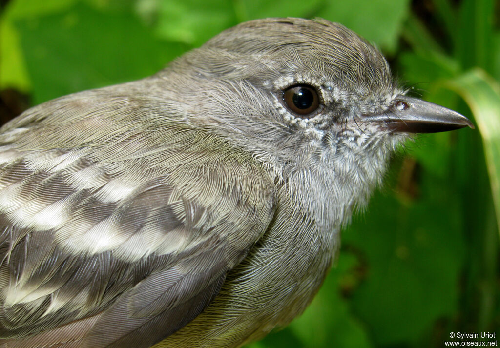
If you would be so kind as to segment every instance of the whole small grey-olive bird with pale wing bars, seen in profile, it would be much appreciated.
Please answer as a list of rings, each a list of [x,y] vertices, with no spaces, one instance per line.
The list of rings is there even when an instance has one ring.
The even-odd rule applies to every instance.
[[[258,339],[311,301],[392,150],[464,126],[323,19],[35,106],[0,129],[0,348]]]

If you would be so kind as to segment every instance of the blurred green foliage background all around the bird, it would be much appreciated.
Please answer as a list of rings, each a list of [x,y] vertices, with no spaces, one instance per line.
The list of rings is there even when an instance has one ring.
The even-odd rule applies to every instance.
[[[320,16],[376,44],[411,93],[475,130],[422,135],[343,232],[305,313],[251,344],[440,347],[500,334],[500,4],[493,0],[0,0],[0,117],[144,77],[238,22]]]

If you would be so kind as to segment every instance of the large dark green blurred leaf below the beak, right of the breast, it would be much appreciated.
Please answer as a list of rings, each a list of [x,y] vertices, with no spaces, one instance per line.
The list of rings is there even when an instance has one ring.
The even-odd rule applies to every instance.
[[[422,337],[420,346],[428,346],[429,327],[456,310],[464,250],[459,200],[449,178],[420,176],[422,198],[376,193],[342,236],[366,264],[351,305],[375,346],[418,346]]]

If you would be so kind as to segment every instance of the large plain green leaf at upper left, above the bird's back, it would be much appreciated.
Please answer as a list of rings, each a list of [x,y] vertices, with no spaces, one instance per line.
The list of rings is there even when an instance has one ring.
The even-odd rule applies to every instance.
[[[103,12],[86,3],[15,21],[34,102],[150,75],[179,55],[132,12]]]

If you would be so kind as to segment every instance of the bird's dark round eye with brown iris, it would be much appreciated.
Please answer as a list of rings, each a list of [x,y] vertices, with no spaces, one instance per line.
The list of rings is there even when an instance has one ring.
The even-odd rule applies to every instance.
[[[294,84],[283,90],[283,101],[292,112],[305,118],[319,107],[316,89],[307,84]]]

